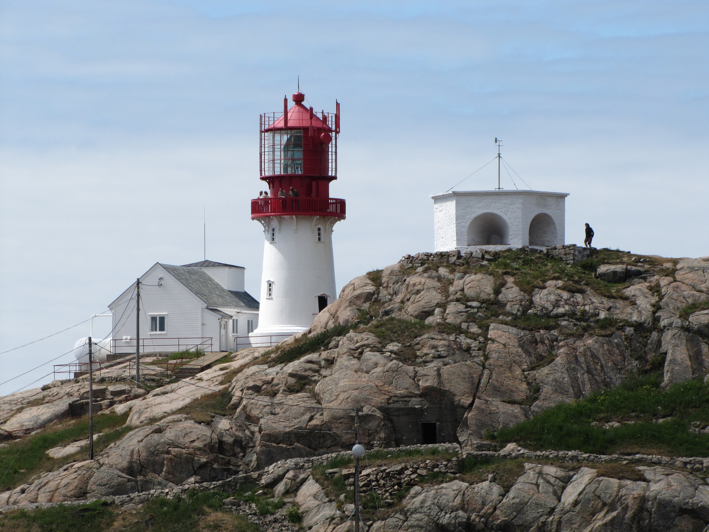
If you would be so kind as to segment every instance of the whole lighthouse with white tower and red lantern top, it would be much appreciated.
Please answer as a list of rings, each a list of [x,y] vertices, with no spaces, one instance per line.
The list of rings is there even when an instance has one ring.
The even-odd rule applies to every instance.
[[[330,197],[337,179],[335,113],[316,112],[296,92],[289,109],[260,120],[260,174],[268,196],[251,200],[251,218],[264,234],[258,328],[252,345],[272,345],[304,331],[337,297],[333,227],[345,219],[345,200]]]

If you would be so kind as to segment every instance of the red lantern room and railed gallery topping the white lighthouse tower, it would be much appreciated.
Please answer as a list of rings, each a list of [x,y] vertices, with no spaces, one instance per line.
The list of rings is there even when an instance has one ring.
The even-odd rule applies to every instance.
[[[335,113],[316,113],[303,105],[305,98],[296,92],[291,109],[284,98],[283,113],[261,115],[260,170],[269,197],[251,200],[251,218],[345,218],[345,200],[330,198],[330,181],[337,179],[340,104]]]

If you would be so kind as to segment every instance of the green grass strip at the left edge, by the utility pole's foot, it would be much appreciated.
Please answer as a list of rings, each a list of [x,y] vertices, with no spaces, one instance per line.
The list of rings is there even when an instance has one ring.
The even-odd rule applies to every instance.
[[[94,433],[104,433],[101,438],[96,439],[94,452],[99,452],[128,432],[127,428],[123,428],[126,419],[128,414],[101,414],[94,417]],[[65,458],[54,459],[46,454],[46,451],[52,448],[88,438],[89,417],[84,416],[77,421],[70,421],[65,426],[45,429],[39,434],[27,436],[21,441],[0,448],[0,490],[13,489],[38,472],[53,471],[69,462],[81,460],[84,455],[84,458],[89,458],[88,445],[85,450]]]

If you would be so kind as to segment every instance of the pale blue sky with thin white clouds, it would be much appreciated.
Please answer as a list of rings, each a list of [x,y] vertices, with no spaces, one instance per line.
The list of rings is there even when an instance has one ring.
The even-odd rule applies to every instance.
[[[259,297],[259,113],[298,77],[342,106],[337,289],[432,250],[430,196],[496,137],[530,187],[569,192],[566,243],[588,221],[598,247],[709,255],[708,65],[705,1],[0,0],[0,352],[202,260],[205,220],[208,259]],[[0,382],[27,372],[0,394],[88,334],[0,354]]]

